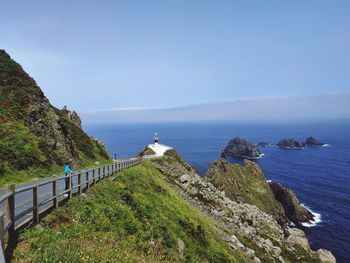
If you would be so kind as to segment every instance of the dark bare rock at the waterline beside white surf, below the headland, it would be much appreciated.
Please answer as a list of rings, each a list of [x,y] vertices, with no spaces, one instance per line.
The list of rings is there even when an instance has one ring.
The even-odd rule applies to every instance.
[[[281,185],[280,183],[270,183],[270,188],[276,199],[282,204],[286,216],[294,223],[310,222],[314,220],[314,215],[300,202],[295,193]]]

